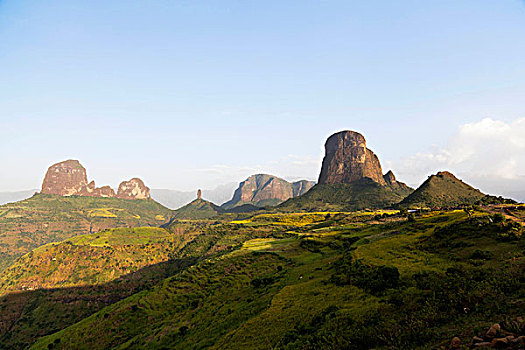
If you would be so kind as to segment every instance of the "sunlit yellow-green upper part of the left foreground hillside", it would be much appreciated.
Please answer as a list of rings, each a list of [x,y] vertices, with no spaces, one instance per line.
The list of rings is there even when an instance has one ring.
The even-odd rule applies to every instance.
[[[0,295],[105,283],[169,260],[190,238],[161,228],[119,228],[50,243],[0,273]]]

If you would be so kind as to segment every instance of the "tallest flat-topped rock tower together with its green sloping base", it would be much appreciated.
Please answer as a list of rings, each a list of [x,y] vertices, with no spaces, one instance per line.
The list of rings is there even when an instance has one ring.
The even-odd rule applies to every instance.
[[[413,191],[396,180],[392,171],[383,175],[379,158],[366,147],[363,135],[341,131],[325,143],[319,181],[304,195],[282,203],[283,211],[352,211],[385,208]]]

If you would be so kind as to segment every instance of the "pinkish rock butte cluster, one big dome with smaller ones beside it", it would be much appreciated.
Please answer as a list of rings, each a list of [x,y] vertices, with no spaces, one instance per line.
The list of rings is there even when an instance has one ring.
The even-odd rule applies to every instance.
[[[88,183],[86,169],[78,160],[69,159],[49,167],[41,193],[60,196],[118,197],[124,199],[148,199],[150,189],[138,178],[123,181],[118,193],[109,186],[96,187]]]

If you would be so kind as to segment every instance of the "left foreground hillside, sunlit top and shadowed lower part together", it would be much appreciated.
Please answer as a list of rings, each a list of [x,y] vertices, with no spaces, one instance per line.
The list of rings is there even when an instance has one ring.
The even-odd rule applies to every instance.
[[[119,228],[24,255],[0,274],[0,348],[26,348],[190,265],[179,253],[197,234],[188,225]]]

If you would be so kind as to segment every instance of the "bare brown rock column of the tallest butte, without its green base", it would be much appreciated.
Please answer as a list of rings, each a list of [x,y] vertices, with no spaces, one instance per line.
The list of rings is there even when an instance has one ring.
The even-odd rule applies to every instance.
[[[363,178],[386,185],[377,156],[366,147],[363,135],[341,131],[326,140],[320,184],[352,183]]]

